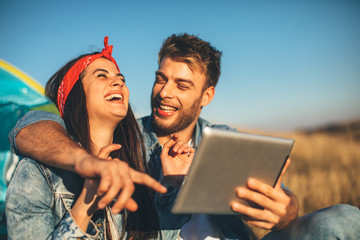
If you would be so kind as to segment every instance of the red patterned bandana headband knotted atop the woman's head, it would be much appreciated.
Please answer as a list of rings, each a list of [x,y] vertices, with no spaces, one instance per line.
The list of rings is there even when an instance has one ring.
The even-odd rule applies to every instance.
[[[62,80],[59,89],[58,89],[58,108],[60,112],[60,116],[63,117],[64,115],[64,107],[66,98],[68,97],[71,89],[74,87],[75,83],[79,80],[80,74],[84,69],[93,61],[95,61],[98,58],[104,57],[112,61],[117,69],[119,70],[119,67],[115,61],[115,59],[111,56],[112,53],[112,45],[108,45],[108,39],[109,37],[104,38],[104,48],[99,54],[94,55],[88,55],[86,57],[81,58],[79,61],[77,61],[66,73],[64,79]],[[120,70],[119,70],[120,71]]]

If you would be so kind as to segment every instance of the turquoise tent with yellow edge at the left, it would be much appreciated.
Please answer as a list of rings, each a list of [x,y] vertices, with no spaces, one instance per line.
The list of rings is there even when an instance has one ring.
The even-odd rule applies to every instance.
[[[27,111],[50,106],[44,88],[19,69],[0,59],[0,234],[4,223],[5,194],[19,157],[10,151],[7,139],[16,121]]]

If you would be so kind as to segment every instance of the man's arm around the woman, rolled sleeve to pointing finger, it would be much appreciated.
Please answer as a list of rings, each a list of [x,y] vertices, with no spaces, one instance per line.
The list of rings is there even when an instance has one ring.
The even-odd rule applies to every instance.
[[[125,184],[124,179],[164,192],[163,187],[146,174],[130,169],[129,178],[124,171],[124,162],[100,159],[82,149],[67,135],[62,121],[49,114],[35,112],[19,120],[9,134],[15,152],[50,166],[74,171],[86,178],[99,178],[97,194],[102,196],[99,208],[104,208],[117,196],[116,209],[128,206],[134,189],[133,184]]]

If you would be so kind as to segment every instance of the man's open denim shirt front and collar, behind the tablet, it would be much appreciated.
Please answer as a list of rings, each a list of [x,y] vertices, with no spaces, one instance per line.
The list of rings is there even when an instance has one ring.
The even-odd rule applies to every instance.
[[[147,163],[149,174],[154,178],[162,182],[162,166],[160,160],[160,154],[162,146],[160,145],[156,134],[153,131],[151,117],[143,117],[138,119],[145,145],[147,147]],[[195,149],[201,140],[202,131],[205,127],[213,127],[219,129],[226,129],[229,131],[236,131],[234,128],[230,128],[226,125],[213,125],[210,122],[199,118],[193,135]],[[159,213],[160,226],[162,231],[167,232],[168,235],[173,236],[172,239],[176,239],[179,235],[182,226],[190,219],[191,215],[172,214],[171,210],[174,206],[179,188],[173,187],[166,183],[162,184],[167,187],[168,191],[165,194],[156,194],[155,206]],[[235,215],[210,215],[209,220],[212,226],[216,227],[222,235],[222,239],[249,239],[249,233],[247,227],[243,221]]]

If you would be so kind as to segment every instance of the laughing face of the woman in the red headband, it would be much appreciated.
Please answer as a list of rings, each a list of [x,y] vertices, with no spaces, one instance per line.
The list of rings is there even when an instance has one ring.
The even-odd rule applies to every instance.
[[[129,89],[116,65],[106,58],[99,58],[81,74],[89,121],[121,121],[128,111]]]

